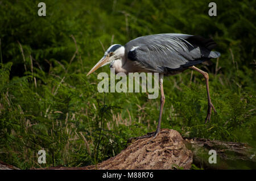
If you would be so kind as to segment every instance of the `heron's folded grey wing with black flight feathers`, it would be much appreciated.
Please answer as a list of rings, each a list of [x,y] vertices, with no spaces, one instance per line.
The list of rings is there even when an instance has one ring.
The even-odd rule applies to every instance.
[[[125,45],[127,58],[148,71],[181,70],[220,56],[211,52],[216,44],[200,36],[166,33],[138,37]]]

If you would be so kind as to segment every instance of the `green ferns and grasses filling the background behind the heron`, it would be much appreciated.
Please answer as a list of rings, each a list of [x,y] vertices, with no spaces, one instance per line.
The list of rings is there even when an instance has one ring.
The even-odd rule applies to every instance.
[[[167,32],[212,37],[221,57],[199,66],[218,112],[210,123],[204,78],[186,70],[164,78],[162,128],[256,145],[255,1],[215,1],[212,17],[210,1],[46,0],[45,17],[39,2],[0,2],[1,161],[21,169],[92,165],[117,155],[128,138],[155,131],[159,99],[99,93],[97,73],[108,66],[86,73],[112,43]]]

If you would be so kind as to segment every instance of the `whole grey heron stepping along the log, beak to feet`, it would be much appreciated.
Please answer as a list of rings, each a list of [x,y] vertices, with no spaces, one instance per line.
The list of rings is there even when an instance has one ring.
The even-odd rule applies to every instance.
[[[189,68],[199,71],[204,75],[207,88],[208,111],[205,123],[210,120],[212,109],[216,112],[210,100],[208,73],[195,67],[197,64],[209,61],[210,58],[220,57],[219,52],[212,51],[216,45],[212,39],[181,33],[141,36],[129,41],[125,46],[119,44],[110,46],[101,60],[87,75],[108,64],[110,64],[110,68],[115,69],[115,73],[159,73],[161,98],[158,127],[155,132],[141,137],[154,136],[155,138],[160,131],[165,101],[163,90],[164,75],[174,75]]]

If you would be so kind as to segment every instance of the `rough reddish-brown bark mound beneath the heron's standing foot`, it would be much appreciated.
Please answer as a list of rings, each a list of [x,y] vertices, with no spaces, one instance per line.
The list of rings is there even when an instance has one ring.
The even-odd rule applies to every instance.
[[[125,150],[97,165],[97,169],[190,169],[192,151],[188,150],[180,133],[162,129],[159,135],[134,141]],[[96,166],[84,167],[96,169]]]

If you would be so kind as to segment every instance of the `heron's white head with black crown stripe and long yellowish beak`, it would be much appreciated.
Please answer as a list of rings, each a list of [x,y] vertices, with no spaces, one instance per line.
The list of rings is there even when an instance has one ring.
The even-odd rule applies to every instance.
[[[87,76],[94,71],[96,71],[98,68],[108,65],[108,64],[113,64],[115,60],[121,59],[125,54],[125,47],[122,45],[114,44],[109,47],[108,50],[106,50],[104,56],[101,58],[100,61],[90,71],[88,72]]]

